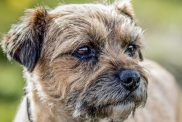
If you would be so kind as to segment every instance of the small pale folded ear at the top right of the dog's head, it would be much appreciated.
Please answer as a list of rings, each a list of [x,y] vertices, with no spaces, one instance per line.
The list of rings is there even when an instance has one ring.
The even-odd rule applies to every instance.
[[[114,7],[118,12],[127,15],[131,19],[134,18],[134,11],[131,0],[116,0],[114,2]]]

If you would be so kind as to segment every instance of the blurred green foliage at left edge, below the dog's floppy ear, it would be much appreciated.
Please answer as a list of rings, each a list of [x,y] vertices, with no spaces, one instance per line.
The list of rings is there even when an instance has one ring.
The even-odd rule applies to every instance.
[[[0,122],[11,122],[23,94],[23,79],[19,66],[0,63]]]

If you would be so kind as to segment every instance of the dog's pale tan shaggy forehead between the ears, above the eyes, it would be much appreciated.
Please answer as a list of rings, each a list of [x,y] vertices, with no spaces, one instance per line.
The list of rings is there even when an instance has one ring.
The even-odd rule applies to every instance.
[[[56,38],[59,40],[56,41],[57,45],[60,42],[64,45],[60,49],[65,51],[64,47],[73,49],[76,45],[89,41],[117,40],[128,43],[142,37],[143,34],[134,20],[118,13],[111,5],[62,5],[50,11],[50,14],[56,15],[51,24],[54,25],[51,31],[55,30],[58,35]]]

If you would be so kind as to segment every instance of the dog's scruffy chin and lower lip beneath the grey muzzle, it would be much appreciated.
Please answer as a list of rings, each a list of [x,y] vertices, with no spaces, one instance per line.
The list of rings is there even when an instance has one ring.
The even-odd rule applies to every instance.
[[[147,99],[147,91],[144,84],[141,84],[135,91],[131,92],[124,99],[116,99],[114,102],[97,106],[87,106],[90,103],[79,101],[76,103],[73,116],[75,118],[110,118],[112,120],[125,120],[139,106],[144,106]]]

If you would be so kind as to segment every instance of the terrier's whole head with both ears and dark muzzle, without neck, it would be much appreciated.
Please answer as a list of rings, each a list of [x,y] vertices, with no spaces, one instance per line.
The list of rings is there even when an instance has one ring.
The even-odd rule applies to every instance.
[[[142,34],[128,2],[65,5],[31,11],[2,44],[57,111],[61,104],[75,118],[124,120],[147,98]]]

